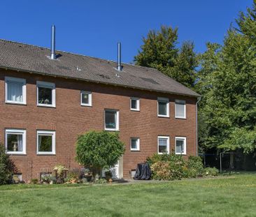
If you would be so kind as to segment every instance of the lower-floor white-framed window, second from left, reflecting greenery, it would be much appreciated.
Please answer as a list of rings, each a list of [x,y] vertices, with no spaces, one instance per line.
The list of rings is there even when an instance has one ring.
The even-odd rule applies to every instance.
[[[55,154],[55,131],[37,131],[37,154]]]

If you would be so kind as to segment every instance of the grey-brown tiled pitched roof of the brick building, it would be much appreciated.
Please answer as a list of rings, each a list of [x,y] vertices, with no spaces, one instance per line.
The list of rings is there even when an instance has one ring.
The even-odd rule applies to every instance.
[[[183,84],[154,68],[123,64],[120,77],[116,76],[115,61],[57,51],[57,60],[48,58],[50,50],[44,47],[0,40],[0,68],[32,73],[69,77],[90,82],[115,84],[136,89],[199,96]]]

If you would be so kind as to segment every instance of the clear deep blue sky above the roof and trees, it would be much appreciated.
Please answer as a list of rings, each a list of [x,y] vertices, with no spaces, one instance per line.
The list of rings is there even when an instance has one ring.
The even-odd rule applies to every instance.
[[[57,50],[130,63],[142,37],[161,24],[178,27],[179,42],[192,40],[197,52],[207,41],[222,43],[239,11],[253,0],[43,0],[1,1],[0,38],[50,47],[56,25]]]

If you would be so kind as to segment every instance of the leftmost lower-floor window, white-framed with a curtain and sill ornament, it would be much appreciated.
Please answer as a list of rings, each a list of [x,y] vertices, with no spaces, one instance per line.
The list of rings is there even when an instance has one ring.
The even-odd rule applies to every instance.
[[[26,154],[26,130],[6,129],[7,154]]]

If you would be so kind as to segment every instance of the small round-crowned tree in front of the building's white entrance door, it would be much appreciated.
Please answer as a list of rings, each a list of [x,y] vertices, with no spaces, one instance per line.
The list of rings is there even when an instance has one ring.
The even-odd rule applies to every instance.
[[[115,166],[124,153],[118,133],[90,131],[79,135],[76,142],[76,160],[90,168],[94,180],[103,168]]]

